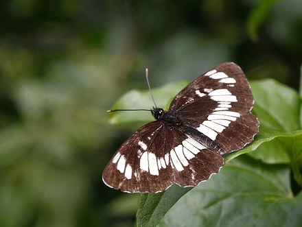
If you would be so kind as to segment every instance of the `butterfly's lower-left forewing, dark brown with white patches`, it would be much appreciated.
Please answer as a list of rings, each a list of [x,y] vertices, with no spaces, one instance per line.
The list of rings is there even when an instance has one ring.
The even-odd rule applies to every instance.
[[[172,184],[169,177],[159,178],[156,151],[163,152],[164,124],[153,121],[139,128],[127,139],[104,169],[103,180],[115,189],[126,192],[162,191]],[[165,141],[161,141],[165,143]],[[159,154],[157,154],[159,155]],[[128,172],[126,171],[128,169]],[[166,168],[165,176],[170,176]]]

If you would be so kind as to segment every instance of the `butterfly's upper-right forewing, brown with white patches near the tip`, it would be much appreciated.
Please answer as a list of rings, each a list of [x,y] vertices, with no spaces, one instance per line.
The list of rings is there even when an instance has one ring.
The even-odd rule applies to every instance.
[[[253,103],[251,87],[244,72],[237,64],[226,62],[200,75],[183,88],[172,100],[170,111],[196,111],[196,107],[213,110],[214,106],[230,108],[218,106],[222,104],[249,111]],[[203,112],[200,112],[200,115],[202,114]]]

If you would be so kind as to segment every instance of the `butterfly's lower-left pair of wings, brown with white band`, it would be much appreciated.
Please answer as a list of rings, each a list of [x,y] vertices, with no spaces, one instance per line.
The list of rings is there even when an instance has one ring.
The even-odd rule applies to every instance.
[[[216,174],[223,158],[166,123],[146,124],[127,139],[104,169],[103,181],[130,193],[156,193],[174,182],[196,186]]]

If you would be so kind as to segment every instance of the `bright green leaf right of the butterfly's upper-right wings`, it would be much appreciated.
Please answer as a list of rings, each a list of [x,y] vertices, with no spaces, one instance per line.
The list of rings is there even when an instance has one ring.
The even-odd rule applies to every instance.
[[[299,94],[275,80],[251,82],[251,88],[255,98],[253,112],[260,121],[259,134],[255,136],[255,141],[251,145],[229,154],[226,157],[227,161],[255,150],[249,155],[264,163],[290,163],[289,155],[297,156],[292,152],[299,152],[302,146],[292,144],[287,145],[285,149],[281,144],[286,140],[292,141],[292,138],[302,134],[299,123],[301,106]]]

